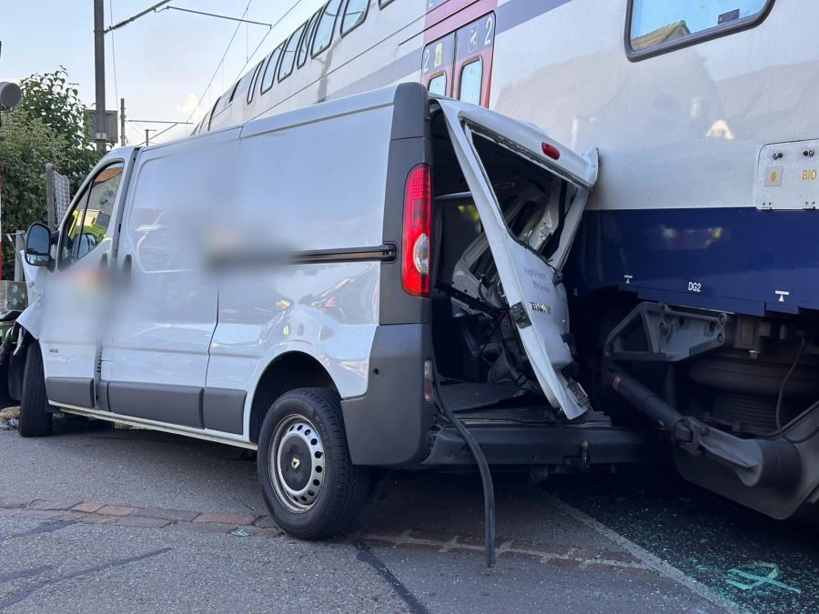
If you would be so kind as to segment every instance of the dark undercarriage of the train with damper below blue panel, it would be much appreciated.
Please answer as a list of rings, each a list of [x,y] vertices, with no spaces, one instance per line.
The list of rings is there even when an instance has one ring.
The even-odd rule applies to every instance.
[[[588,346],[600,356],[590,370],[615,422],[636,411],[672,446],[683,478],[767,516],[816,502],[815,323],[642,302],[606,328]]]

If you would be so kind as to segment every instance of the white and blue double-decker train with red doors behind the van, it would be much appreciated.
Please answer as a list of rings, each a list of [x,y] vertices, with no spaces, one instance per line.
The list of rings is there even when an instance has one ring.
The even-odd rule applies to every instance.
[[[420,81],[597,147],[565,277],[584,387],[636,428],[673,408],[684,478],[789,518],[819,499],[816,23],[814,0],[329,0],[195,133]]]

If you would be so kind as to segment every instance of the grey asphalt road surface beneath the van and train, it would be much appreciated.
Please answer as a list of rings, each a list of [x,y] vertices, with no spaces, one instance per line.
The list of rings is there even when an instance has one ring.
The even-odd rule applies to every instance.
[[[752,528],[763,526],[767,542],[746,537],[722,556],[736,541],[730,508],[711,502],[711,516],[725,518],[727,509],[729,518],[706,518],[700,504],[710,498],[679,485],[654,488],[640,476],[548,488],[496,476],[501,554],[486,569],[475,476],[390,474],[354,532],[311,543],[230,525],[231,516],[221,525],[128,526],[139,524],[140,508],[187,510],[188,519],[232,513],[267,526],[255,462],[236,448],[144,430],[42,439],[0,431],[0,468],[0,609],[10,612],[819,609],[813,547],[760,521]],[[89,524],[106,508],[38,509],[80,501],[125,506],[109,509],[128,515]],[[702,531],[692,538],[682,530],[691,514],[708,520],[707,548]],[[692,562],[703,550],[708,557]],[[768,559],[787,588],[726,583],[743,579],[727,566]]]

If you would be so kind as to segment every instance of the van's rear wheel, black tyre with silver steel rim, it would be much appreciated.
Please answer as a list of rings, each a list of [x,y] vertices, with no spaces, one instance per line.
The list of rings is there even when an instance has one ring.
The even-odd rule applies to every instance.
[[[258,438],[258,478],[278,526],[300,539],[349,528],[369,492],[369,468],[349,460],[337,394],[300,388],[279,397]]]

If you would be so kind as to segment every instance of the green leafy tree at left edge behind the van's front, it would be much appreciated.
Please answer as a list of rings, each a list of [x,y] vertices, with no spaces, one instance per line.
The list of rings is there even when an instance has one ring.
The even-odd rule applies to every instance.
[[[4,235],[45,221],[46,164],[66,175],[76,190],[99,159],[87,137],[85,106],[65,69],[31,75],[20,89],[20,104],[3,114],[0,140]],[[13,271],[14,253],[3,237],[3,277]]]

